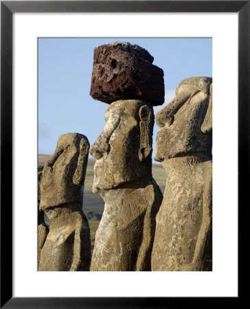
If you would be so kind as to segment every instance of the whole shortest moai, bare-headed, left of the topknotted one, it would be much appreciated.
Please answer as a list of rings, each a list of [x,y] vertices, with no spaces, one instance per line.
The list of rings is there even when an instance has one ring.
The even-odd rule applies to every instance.
[[[58,139],[40,184],[40,207],[49,218],[38,271],[89,271],[89,223],[82,212],[83,186],[89,154],[87,137],[67,133]]]

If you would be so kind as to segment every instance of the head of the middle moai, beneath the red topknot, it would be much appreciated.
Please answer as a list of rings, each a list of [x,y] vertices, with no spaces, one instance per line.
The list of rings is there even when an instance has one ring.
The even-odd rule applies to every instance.
[[[95,162],[93,192],[102,192],[151,175],[152,105],[142,100],[113,102],[106,126],[89,152]]]

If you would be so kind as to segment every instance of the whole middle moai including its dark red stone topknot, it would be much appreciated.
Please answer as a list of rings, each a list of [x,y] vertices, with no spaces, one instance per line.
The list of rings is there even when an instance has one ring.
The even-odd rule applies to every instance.
[[[163,71],[149,62],[150,57],[145,49],[129,43],[95,49],[91,95],[112,103],[105,113],[106,126],[89,150],[97,160],[93,192],[105,202],[91,271],[151,270],[155,216],[162,201],[152,178],[152,104],[162,104],[164,87]],[[154,74],[159,80],[161,100],[152,95],[157,89],[149,85],[150,73],[152,80]]]

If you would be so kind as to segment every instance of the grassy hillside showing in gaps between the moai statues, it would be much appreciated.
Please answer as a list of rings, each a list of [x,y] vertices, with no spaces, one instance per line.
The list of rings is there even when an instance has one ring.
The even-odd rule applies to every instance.
[[[47,161],[49,157],[50,155],[38,155],[38,165],[44,165],[45,161]],[[104,210],[104,201],[102,200],[102,197],[99,194],[94,194],[92,192],[94,164],[95,159],[88,160],[83,196],[83,211],[89,220],[92,249],[95,241],[95,231],[98,229],[100,217]],[[161,192],[164,193],[166,185],[166,173],[163,170],[161,164],[152,164],[152,176],[161,188]]]

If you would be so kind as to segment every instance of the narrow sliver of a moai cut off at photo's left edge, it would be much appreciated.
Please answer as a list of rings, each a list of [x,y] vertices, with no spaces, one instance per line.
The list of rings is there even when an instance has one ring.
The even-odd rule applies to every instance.
[[[38,165],[38,265],[40,262],[41,249],[45,244],[47,234],[49,233],[49,227],[44,221],[44,212],[39,210],[40,205],[40,183],[43,173],[43,165]]]

